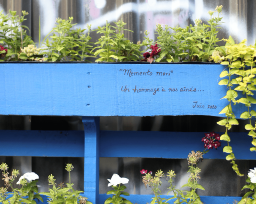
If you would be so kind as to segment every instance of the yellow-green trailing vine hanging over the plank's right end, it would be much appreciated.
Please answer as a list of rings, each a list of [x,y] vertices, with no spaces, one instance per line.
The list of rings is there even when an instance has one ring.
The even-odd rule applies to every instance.
[[[254,99],[253,92],[256,90],[254,86],[256,84],[255,74],[256,68],[254,57],[256,56],[255,46],[246,46],[246,40],[243,40],[239,44],[235,44],[234,40],[229,37],[226,48],[226,56],[225,62],[222,62],[223,65],[228,65],[228,71],[224,70],[220,74],[220,78],[228,77],[228,79],[222,79],[219,82],[219,85],[227,85],[228,91],[227,95],[223,98],[226,98],[229,101],[229,104],[222,109],[219,114],[226,114],[227,119],[221,120],[218,122],[219,125],[226,126],[225,134],[221,135],[220,139],[227,141],[227,146],[223,148],[223,152],[227,152],[229,155],[226,157],[227,160],[231,160],[231,164],[233,164],[233,169],[237,173],[238,176],[243,176],[238,170],[237,165],[235,164],[235,155],[231,146],[229,145],[230,137],[228,135],[228,130],[232,125],[238,125],[238,121],[236,120],[236,116],[232,111],[232,103],[236,105],[236,103],[242,103],[245,105],[246,111],[241,114],[241,118],[249,119],[249,124],[245,125],[245,129],[249,130],[249,134],[253,137],[252,145],[254,147],[250,148],[251,151],[256,151],[256,133],[255,133],[255,125],[252,125],[251,118],[256,117],[256,112],[251,110],[251,104],[256,104],[256,99]],[[236,87],[233,89],[233,86]],[[237,91],[242,91],[242,97],[238,98]]]

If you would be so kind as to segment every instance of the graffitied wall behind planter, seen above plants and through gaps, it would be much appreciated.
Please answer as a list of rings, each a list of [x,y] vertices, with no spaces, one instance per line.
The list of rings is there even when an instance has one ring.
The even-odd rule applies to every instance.
[[[156,23],[168,24],[171,27],[193,24],[195,19],[203,22],[209,19],[209,10],[217,5],[223,5],[222,30],[219,38],[228,38],[231,35],[236,43],[247,38],[248,44],[254,44],[255,8],[253,0],[0,0],[0,10],[6,14],[9,9],[21,14],[22,10],[29,12],[24,22],[31,30],[31,36],[38,42],[38,22],[41,21],[41,39],[54,27],[55,19],[74,17],[75,28],[86,28],[92,24],[92,29],[108,22],[123,19],[127,23],[126,29],[134,32],[125,32],[127,38],[136,43],[143,40],[144,31],[150,32],[150,37],[156,40]],[[92,35],[93,41],[99,36]],[[216,124],[220,118],[210,116],[156,116],[156,117],[101,117],[101,130],[133,130],[133,131],[182,131],[204,132],[225,131]],[[231,131],[244,132],[244,121]],[[83,130],[81,117],[51,117],[51,116],[0,116],[2,130]],[[154,142],[154,141],[152,141]],[[186,141],[185,141],[186,142]],[[201,142],[201,141],[198,141]],[[164,143],[164,141],[163,141]],[[223,146],[224,146],[223,142]],[[40,145],[40,144],[38,144]],[[191,146],[191,150],[193,146]],[[203,144],[202,144],[203,150]],[[47,150],[46,150],[47,151]],[[132,151],[132,150],[131,150]],[[215,151],[215,150],[212,150]],[[218,150],[219,151],[219,150]],[[83,158],[38,158],[38,157],[1,157],[0,162],[6,162],[10,168],[20,169],[21,175],[26,172],[35,172],[39,175],[40,191],[47,191],[47,176],[53,174],[57,182],[67,182],[65,172],[66,163],[75,166],[73,182],[75,188],[83,190]],[[207,160],[199,164],[202,168],[200,183],[206,191],[198,194],[208,196],[242,196],[242,186],[245,184],[246,173],[249,168],[256,166],[253,160],[237,161],[244,177],[238,177],[226,160]],[[173,169],[177,173],[175,184],[182,186],[188,180],[186,174],[187,160],[185,159],[156,159],[156,158],[101,158],[100,159],[100,193],[106,193],[107,179],[113,173],[130,179],[127,191],[134,194],[149,194],[141,181],[139,170],[150,169],[155,172],[162,169],[165,173]],[[11,170],[10,170],[11,171]],[[0,182],[2,185],[2,182]],[[163,184],[165,189],[166,185]],[[164,190],[163,193],[167,191]]]

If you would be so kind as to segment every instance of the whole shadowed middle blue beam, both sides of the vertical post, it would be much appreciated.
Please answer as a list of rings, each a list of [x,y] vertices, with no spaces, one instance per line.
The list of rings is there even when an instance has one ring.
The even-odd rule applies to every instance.
[[[247,133],[229,135],[237,159],[255,159]],[[186,159],[191,150],[204,149],[203,137],[203,132],[100,131],[100,157]],[[84,157],[84,131],[1,130],[0,141],[0,156]],[[225,159],[224,146],[222,141],[204,158]]]

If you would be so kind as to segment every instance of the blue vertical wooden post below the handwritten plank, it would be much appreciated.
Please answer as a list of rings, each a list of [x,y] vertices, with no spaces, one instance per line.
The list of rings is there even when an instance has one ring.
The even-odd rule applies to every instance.
[[[99,117],[83,117],[84,196],[99,204]]]

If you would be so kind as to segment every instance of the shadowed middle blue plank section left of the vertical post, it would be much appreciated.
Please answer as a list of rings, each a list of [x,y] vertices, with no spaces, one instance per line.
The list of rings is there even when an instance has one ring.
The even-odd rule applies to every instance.
[[[0,130],[0,141],[1,156],[84,156],[83,131]]]

